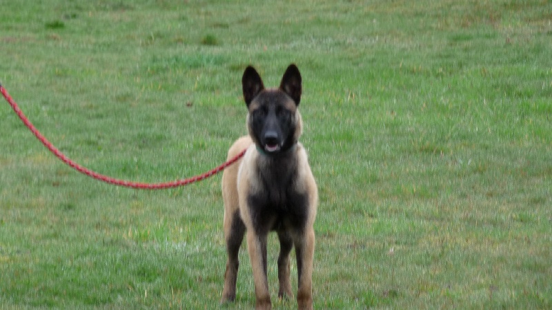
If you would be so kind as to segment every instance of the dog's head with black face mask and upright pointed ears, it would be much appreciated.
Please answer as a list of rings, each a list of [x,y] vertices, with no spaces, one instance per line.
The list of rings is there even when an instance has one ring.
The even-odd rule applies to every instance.
[[[301,100],[301,74],[289,65],[278,88],[265,89],[261,76],[249,66],[242,77],[244,100],[248,107],[247,127],[251,138],[266,154],[282,154],[291,149],[302,131],[297,110]]]

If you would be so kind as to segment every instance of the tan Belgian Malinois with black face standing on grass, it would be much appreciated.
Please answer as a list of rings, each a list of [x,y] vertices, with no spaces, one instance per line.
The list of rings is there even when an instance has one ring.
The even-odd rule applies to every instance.
[[[242,77],[248,108],[249,135],[239,138],[228,151],[232,158],[247,148],[244,158],[222,175],[226,273],[222,302],[236,297],[238,251],[244,235],[253,267],[256,309],[270,309],[266,278],[266,240],[276,231],[279,298],[293,298],[289,254],[297,256],[297,303],[299,309],[313,309],[313,254],[318,192],[308,165],[306,151],[298,142],[302,120],[297,106],[302,79],[297,66],[290,65],[279,88],[265,89],[255,68]]]

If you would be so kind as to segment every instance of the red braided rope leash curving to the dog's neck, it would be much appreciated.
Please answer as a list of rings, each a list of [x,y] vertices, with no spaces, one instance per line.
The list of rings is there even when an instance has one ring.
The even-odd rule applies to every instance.
[[[81,172],[81,174],[86,174],[87,176],[90,176],[90,177],[95,178],[97,180],[101,180],[102,182],[113,184],[113,185],[119,185],[119,186],[123,186],[123,187],[132,187],[132,188],[135,188],[135,189],[166,189],[166,188],[184,186],[184,185],[188,185],[188,184],[200,181],[200,180],[204,180],[205,178],[208,178],[210,176],[213,176],[213,175],[221,172],[222,170],[224,170],[229,165],[232,165],[233,163],[238,161],[239,158],[242,158],[242,156],[244,156],[244,154],[246,153],[246,149],[244,149],[244,151],[237,154],[237,156],[235,156],[234,158],[231,158],[226,163],[223,163],[222,165],[219,165],[215,169],[212,169],[212,170],[210,170],[210,171],[208,171],[204,174],[200,174],[199,176],[193,176],[191,178],[186,178],[186,179],[183,179],[183,180],[175,180],[175,181],[165,182],[165,183],[138,183],[138,182],[131,182],[131,181],[128,181],[128,180],[119,180],[117,178],[110,178],[109,176],[104,176],[103,174],[93,172],[92,170],[87,169],[86,167],[83,167],[83,166],[75,163],[70,158],[65,156],[65,154],[61,153],[59,151],[59,149],[57,149],[54,145],[52,145],[52,143],[50,143],[50,141],[48,141],[48,139],[46,139],[46,137],[44,137],[37,130],[37,128],[34,127],[34,125],[32,125],[32,123],[28,120],[28,118],[25,116],[25,114],[23,114],[23,112],[21,112],[21,109],[19,109],[19,106],[17,105],[17,103],[15,103],[15,101],[12,99],[10,94],[8,94],[8,91],[6,90],[6,88],[4,88],[2,85],[0,85],[0,92],[2,92],[2,95],[4,96],[6,101],[8,101],[8,103],[10,103],[10,106],[14,110],[15,114],[17,114],[17,116],[19,116],[21,121],[23,121],[23,123],[28,127],[28,129],[32,132],[32,134],[34,134],[34,136],[36,136],[39,139],[39,141],[46,148],[48,148],[50,150],[50,152],[52,152],[55,156],[57,156],[57,158],[61,159],[61,161],[63,161],[63,163],[66,163],[67,165],[69,165],[73,169],[77,170],[78,172]]]

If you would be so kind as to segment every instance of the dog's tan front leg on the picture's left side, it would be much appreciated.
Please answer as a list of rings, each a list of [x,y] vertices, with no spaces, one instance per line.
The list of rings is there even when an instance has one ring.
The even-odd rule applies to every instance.
[[[257,234],[247,231],[247,249],[253,267],[253,281],[255,282],[255,309],[271,309],[268,279],[266,278],[266,238],[267,234]]]

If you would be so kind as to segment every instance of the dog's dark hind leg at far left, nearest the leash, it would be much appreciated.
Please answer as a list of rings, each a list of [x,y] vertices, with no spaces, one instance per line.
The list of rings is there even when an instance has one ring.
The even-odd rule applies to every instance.
[[[237,270],[239,268],[239,247],[244,240],[246,227],[239,218],[239,211],[234,214],[224,214],[224,234],[226,238],[226,272],[224,273],[224,289],[221,302],[234,301],[236,298]]]

